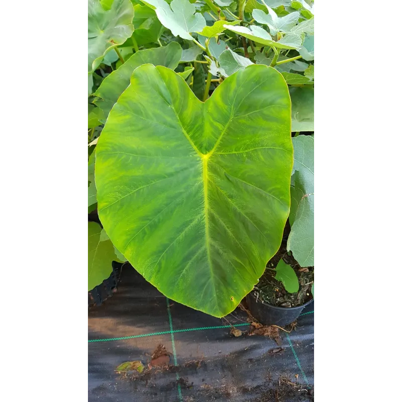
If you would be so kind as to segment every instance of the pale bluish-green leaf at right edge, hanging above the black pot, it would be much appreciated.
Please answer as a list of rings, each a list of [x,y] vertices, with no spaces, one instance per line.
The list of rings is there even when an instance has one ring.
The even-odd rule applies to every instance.
[[[291,187],[290,234],[287,250],[300,266],[314,265],[314,137],[299,135],[292,139],[294,148],[294,186]]]

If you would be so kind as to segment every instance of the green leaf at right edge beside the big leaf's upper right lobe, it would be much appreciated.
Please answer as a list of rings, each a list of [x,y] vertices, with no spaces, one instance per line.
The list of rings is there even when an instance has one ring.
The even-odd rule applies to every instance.
[[[292,131],[314,131],[316,116],[314,88],[292,86],[289,92],[292,99]]]

